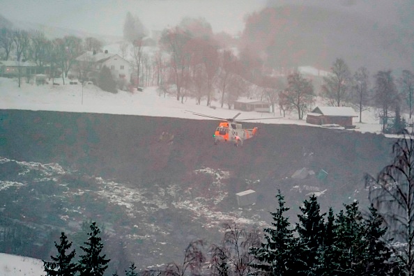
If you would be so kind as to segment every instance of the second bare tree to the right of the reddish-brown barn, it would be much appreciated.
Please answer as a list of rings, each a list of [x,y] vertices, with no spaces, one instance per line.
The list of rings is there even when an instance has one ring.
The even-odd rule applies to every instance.
[[[383,116],[383,131],[388,124],[388,116],[390,108],[395,106],[398,100],[397,87],[394,84],[394,78],[391,75],[391,70],[378,71],[375,78],[374,86],[374,102],[378,108],[381,108],[381,116]]]

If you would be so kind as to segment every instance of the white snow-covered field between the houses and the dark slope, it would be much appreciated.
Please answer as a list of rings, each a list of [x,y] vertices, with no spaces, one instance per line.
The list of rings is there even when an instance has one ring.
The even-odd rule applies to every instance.
[[[61,79],[55,79],[55,82],[61,83]],[[323,105],[323,102],[319,100],[315,107],[317,105]],[[196,105],[192,98],[187,98],[181,103],[181,101],[176,100],[174,95],[167,95],[166,97],[159,95],[156,87],[148,87],[142,92],[118,91],[116,94],[102,91],[92,84],[86,84],[85,86],[82,86],[82,84],[36,86],[22,82],[19,88],[16,79],[0,77],[0,109],[92,112],[202,120],[208,118],[196,116],[186,110],[220,118],[231,118],[238,113],[236,110],[229,110],[226,105],[220,108],[220,102],[213,102],[212,106],[216,108],[207,107],[205,101],[202,101],[201,105]],[[238,119],[266,118],[269,116],[273,116],[273,114],[242,112]],[[278,110],[276,110],[275,116],[280,116]],[[355,131],[381,133],[381,125],[378,123],[374,109],[362,112],[363,123],[358,123],[358,121],[359,118],[354,118]],[[305,119],[298,120],[298,115],[295,112],[286,114],[286,118],[257,120],[257,122],[309,125]]]

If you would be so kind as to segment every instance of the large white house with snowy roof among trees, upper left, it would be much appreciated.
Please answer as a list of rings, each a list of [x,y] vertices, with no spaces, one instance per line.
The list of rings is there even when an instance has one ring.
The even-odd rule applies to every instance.
[[[132,66],[118,54],[86,52],[77,57],[75,70],[79,74],[79,79],[96,80],[103,66],[107,66],[112,72],[114,79],[125,79],[130,81]]]

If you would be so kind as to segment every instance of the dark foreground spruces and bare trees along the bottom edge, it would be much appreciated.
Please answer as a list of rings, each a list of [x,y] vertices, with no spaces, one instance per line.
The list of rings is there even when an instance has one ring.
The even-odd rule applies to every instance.
[[[112,275],[414,275],[414,137],[405,132],[392,153],[389,165],[365,178],[367,210],[353,201],[337,213],[332,208],[323,213],[313,194],[291,224],[279,191],[270,227],[224,224],[220,243],[192,241],[181,263],[138,270],[132,262],[123,274]],[[58,254],[44,262],[47,275],[103,275],[109,259],[101,254],[99,233],[91,223],[78,263],[72,261],[74,251],[67,253],[71,243],[62,233],[61,243],[55,243]]]

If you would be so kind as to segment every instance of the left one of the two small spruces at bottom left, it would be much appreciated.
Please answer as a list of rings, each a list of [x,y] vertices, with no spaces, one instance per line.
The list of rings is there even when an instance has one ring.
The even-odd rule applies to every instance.
[[[72,259],[75,257],[75,250],[66,254],[66,250],[70,249],[72,243],[68,242],[64,232],[61,233],[60,240],[61,243],[59,245],[54,242],[58,254],[50,256],[52,261],[43,261],[43,267],[47,276],[71,276],[77,272],[77,265],[72,263]]]

